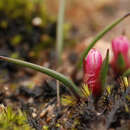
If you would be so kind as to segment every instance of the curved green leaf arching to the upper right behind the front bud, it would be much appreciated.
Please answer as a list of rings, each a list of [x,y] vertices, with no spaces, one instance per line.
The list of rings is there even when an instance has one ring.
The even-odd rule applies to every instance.
[[[117,19],[116,21],[114,21],[112,24],[108,25],[103,31],[101,31],[94,39],[93,41],[90,43],[90,45],[88,46],[88,48],[81,54],[81,58],[78,64],[78,67],[82,66],[83,63],[83,59],[84,57],[87,56],[88,52],[90,51],[90,49],[93,48],[93,46],[96,44],[96,42],[98,40],[100,40],[107,32],[109,32],[111,29],[113,29],[116,25],[118,25],[121,21],[123,21],[126,17],[128,17],[130,15],[130,13],[126,14],[125,16]]]

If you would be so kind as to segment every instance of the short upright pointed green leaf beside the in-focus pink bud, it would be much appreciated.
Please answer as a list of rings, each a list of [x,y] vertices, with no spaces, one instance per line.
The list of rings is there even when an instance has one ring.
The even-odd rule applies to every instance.
[[[100,80],[101,80],[102,89],[104,89],[105,87],[107,72],[108,72],[108,65],[109,65],[109,50],[107,50],[106,57],[101,67]]]

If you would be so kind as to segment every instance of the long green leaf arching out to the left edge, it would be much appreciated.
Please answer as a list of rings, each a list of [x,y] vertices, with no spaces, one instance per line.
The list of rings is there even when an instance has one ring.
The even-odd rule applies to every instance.
[[[76,97],[80,97],[82,95],[79,88],[72,82],[72,80],[62,75],[61,73],[58,73],[46,67],[42,67],[40,65],[32,64],[18,59],[13,59],[4,56],[0,56],[0,59],[47,74],[48,76],[51,76],[62,82],[66,87],[69,88],[69,90],[71,90],[72,94],[74,94]]]

